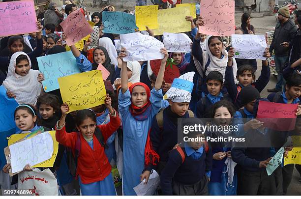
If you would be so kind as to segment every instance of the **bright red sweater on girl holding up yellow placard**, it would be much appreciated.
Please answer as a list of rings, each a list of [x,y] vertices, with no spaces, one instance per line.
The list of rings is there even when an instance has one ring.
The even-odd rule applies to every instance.
[[[110,122],[103,125],[98,125],[100,128],[104,141],[120,127],[120,117],[116,112],[116,117],[110,114]],[[81,177],[83,184],[89,184],[103,180],[111,173],[111,165],[105,154],[104,147],[100,145],[95,135],[93,135],[93,149],[88,142],[80,134],[81,138],[81,152],[77,160],[76,175]],[[75,150],[75,143],[77,133],[66,133],[65,126],[61,130],[56,127],[56,139],[60,144],[68,146]]]

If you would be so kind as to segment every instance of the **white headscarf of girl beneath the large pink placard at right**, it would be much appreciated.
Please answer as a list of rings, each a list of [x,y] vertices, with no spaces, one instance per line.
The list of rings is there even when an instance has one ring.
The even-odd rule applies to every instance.
[[[197,59],[194,57],[193,60],[195,61],[196,64],[196,68],[198,70],[198,72],[200,73],[201,76],[203,76],[203,71],[205,70],[205,66],[208,62],[208,58],[210,57],[210,64],[207,67],[206,70],[206,76],[208,76],[208,74],[211,71],[218,71],[220,72],[223,77],[224,77],[224,81],[225,81],[225,72],[226,72],[226,67],[228,64],[228,52],[225,50],[225,48],[222,49],[222,55],[224,55],[223,58],[219,59],[215,56],[212,55],[209,45],[208,45],[208,41],[209,38],[212,35],[207,36],[206,39],[206,51],[203,51],[203,63],[201,63],[202,65],[199,65],[199,62],[197,61]],[[233,64],[232,64],[232,70],[233,70],[233,77],[234,77],[234,82],[237,83],[237,79],[236,79],[236,75],[237,75],[237,64],[236,64],[236,60],[235,58],[233,58]]]

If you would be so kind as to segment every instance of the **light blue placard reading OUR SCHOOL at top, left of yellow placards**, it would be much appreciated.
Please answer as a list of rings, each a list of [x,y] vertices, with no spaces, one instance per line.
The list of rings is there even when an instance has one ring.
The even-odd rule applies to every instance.
[[[103,31],[113,34],[128,34],[138,29],[135,15],[125,12],[102,12]]]

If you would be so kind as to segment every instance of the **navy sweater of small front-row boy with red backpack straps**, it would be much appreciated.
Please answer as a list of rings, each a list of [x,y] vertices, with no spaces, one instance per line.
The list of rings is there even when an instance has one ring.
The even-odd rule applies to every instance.
[[[202,156],[194,160],[191,156],[187,157],[185,148],[185,160],[182,164],[182,157],[175,149],[169,154],[168,162],[161,172],[161,188],[164,195],[173,195],[172,181],[175,180],[181,184],[194,184],[200,181],[207,171],[211,171],[212,152],[211,148]]]

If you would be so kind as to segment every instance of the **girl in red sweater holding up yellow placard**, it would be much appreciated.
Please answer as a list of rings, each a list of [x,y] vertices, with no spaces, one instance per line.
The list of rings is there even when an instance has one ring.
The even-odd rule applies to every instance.
[[[96,114],[88,109],[80,110],[75,117],[78,132],[72,133],[66,133],[65,130],[65,117],[69,107],[63,104],[60,108],[62,116],[56,126],[57,141],[74,150],[74,154],[77,139],[81,141],[76,176],[79,176],[82,195],[116,195],[111,165],[104,152],[103,143],[100,143],[96,136],[102,136],[103,141],[106,142],[119,128],[120,118],[112,108],[111,98],[108,94],[105,105],[110,112],[109,123],[96,126]],[[97,135],[95,135],[95,132],[98,132]]]

